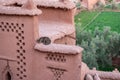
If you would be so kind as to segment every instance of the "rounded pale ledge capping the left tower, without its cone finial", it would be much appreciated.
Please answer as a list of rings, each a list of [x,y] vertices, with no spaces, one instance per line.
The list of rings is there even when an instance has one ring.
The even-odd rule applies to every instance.
[[[40,15],[41,13],[42,11],[39,9],[26,9],[21,7],[0,5],[0,14],[34,16],[34,15]]]

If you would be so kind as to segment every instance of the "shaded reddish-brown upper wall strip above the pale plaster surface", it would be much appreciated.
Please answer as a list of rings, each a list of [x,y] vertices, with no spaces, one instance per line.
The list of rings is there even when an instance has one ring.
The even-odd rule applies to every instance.
[[[55,21],[63,23],[72,23],[74,25],[74,13],[75,9],[60,9],[53,7],[38,7],[42,10],[42,14],[39,16],[40,21]]]

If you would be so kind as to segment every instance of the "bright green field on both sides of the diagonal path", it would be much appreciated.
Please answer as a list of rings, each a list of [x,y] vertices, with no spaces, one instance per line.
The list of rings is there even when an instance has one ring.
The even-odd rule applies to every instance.
[[[75,23],[77,30],[82,30],[96,15],[98,12],[83,11],[75,16]],[[95,30],[95,27],[103,29],[104,26],[111,27],[112,31],[120,33],[120,12],[102,12],[90,25],[87,26],[87,30]]]

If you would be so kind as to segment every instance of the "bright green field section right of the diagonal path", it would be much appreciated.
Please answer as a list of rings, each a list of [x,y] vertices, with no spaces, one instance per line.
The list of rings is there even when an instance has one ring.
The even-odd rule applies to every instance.
[[[120,12],[102,12],[87,29],[102,29],[104,26],[110,26],[112,31],[120,32]]]

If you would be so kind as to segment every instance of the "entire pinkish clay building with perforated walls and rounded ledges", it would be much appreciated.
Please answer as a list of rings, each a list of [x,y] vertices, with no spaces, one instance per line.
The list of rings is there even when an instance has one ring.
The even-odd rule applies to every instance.
[[[1,0],[0,80],[120,80],[82,62],[75,10],[69,0]]]

